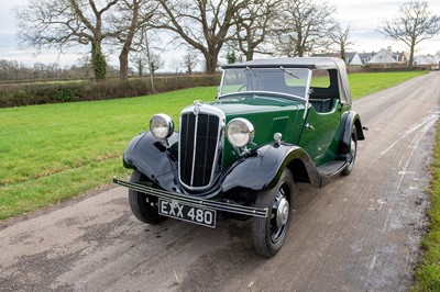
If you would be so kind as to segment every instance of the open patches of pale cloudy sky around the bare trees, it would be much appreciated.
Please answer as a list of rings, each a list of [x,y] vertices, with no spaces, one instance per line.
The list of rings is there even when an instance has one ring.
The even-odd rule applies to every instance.
[[[399,5],[405,2],[403,0],[328,0],[328,2],[337,8],[334,18],[342,23],[350,23],[351,40],[354,45],[350,50],[378,52],[382,48],[392,47],[393,50],[407,50],[402,42],[395,42],[386,38],[377,32],[377,26],[384,20],[392,20]],[[440,15],[440,0],[427,0],[429,10]],[[40,55],[29,49],[19,49],[16,41],[16,21],[12,11],[13,7],[26,3],[26,0],[0,0],[0,59],[18,60],[26,66],[34,63],[53,64],[58,63],[61,66],[73,65],[89,49],[78,47],[75,50],[66,52],[59,55],[57,52],[45,50]],[[424,41],[418,46],[417,54],[436,54],[440,52],[440,35],[435,38]],[[182,52],[168,52],[164,59],[176,61],[183,55]],[[169,61],[168,61],[169,63]],[[118,57],[110,56],[110,64],[118,65]],[[169,64],[165,65],[165,70],[170,70]]]

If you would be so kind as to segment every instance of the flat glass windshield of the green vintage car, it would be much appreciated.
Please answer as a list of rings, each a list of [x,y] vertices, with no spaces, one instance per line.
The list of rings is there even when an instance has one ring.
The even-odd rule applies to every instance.
[[[227,69],[220,96],[234,92],[267,91],[306,99],[310,70],[306,68],[238,68]]]

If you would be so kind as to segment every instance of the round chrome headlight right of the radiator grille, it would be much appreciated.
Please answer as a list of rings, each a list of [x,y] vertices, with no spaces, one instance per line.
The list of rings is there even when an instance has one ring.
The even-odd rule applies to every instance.
[[[254,138],[254,126],[246,119],[233,119],[227,125],[227,137],[232,146],[242,148]]]

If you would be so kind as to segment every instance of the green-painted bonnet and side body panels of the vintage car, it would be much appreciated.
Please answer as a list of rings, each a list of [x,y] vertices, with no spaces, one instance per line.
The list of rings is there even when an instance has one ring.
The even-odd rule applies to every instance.
[[[305,101],[285,99],[271,94],[243,94],[222,98],[209,104],[226,113],[228,124],[232,119],[244,117],[255,130],[253,149],[272,143],[275,133],[283,135],[283,142],[302,147],[317,167],[334,159],[343,127],[341,116],[350,106],[343,108],[334,100],[330,112],[317,112],[314,106],[304,120]],[[305,127],[306,124],[312,127]],[[240,155],[224,139],[223,168],[231,166]]]

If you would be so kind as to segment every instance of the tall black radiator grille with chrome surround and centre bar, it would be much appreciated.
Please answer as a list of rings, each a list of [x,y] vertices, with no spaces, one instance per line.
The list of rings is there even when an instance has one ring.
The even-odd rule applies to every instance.
[[[184,112],[180,116],[179,178],[190,189],[210,187],[218,166],[220,116]]]

